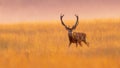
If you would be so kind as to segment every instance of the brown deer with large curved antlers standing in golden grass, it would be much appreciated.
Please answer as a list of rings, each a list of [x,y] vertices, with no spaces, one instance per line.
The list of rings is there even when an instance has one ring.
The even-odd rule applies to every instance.
[[[62,25],[66,28],[66,30],[68,31],[68,37],[69,37],[69,47],[71,45],[71,43],[76,43],[76,47],[78,46],[78,43],[80,46],[81,45],[81,42],[83,41],[87,46],[89,46],[89,43],[86,42],[86,34],[85,33],[80,33],[80,32],[72,32],[76,26],[78,25],[78,19],[79,17],[77,15],[76,18],[77,18],[77,21],[75,23],[75,25],[73,25],[71,28],[70,27],[67,27],[64,22],[63,22],[63,16],[64,15],[61,15],[60,16],[60,20],[61,20],[61,23]]]

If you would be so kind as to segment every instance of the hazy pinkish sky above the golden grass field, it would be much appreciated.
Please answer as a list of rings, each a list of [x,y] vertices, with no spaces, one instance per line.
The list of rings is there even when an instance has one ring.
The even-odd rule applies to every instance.
[[[120,18],[120,0],[0,0],[0,22]]]

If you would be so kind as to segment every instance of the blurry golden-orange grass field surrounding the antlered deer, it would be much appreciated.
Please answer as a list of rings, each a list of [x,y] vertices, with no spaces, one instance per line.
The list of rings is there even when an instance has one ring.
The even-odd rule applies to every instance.
[[[1,24],[0,68],[120,68],[120,20],[80,21],[75,31],[90,47],[69,48],[59,21]]]

